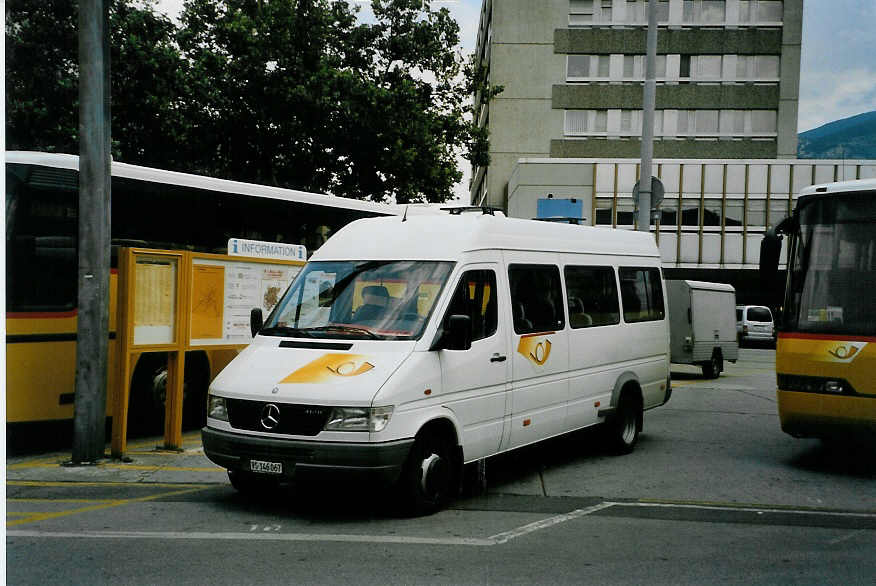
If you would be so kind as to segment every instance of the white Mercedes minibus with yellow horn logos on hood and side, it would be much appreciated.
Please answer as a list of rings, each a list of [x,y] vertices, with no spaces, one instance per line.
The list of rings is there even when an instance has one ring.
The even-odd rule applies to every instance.
[[[632,450],[669,399],[650,234],[477,212],[353,222],[210,385],[206,455],[242,491],[373,473],[429,512],[463,464],[605,424]]]

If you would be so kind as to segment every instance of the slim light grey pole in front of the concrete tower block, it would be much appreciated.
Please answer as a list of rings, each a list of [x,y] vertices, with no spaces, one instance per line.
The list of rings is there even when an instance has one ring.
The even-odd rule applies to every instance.
[[[651,158],[654,154],[654,102],[657,93],[657,0],[648,0],[645,93],[642,98],[642,164],[639,166],[638,230],[651,230]]]

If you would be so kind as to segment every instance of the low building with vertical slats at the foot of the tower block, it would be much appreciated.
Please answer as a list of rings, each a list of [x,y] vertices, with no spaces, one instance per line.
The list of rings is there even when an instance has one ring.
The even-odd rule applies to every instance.
[[[665,187],[651,230],[666,277],[730,283],[741,303],[761,304],[776,298],[765,299],[756,270],[767,227],[790,214],[803,187],[876,178],[876,161],[655,159],[653,175]],[[575,199],[583,223],[633,230],[638,177],[635,159],[520,159],[508,180],[507,212],[534,218],[539,200]]]

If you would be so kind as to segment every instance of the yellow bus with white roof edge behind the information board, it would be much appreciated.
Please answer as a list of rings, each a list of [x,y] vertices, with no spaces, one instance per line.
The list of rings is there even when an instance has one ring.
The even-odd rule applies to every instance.
[[[7,441],[26,424],[72,421],[78,167],[74,155],[6,153]],[[119,246],[227,252],[230,238],[248,238],[313,250],[352,220],[394,213],[383,204],[114,162],[108,388],[116,384]],[[183,416],[189,427],[204,418],[207,385],[234,354],[186,355]],[[166,376],[165,354],[140,358],[131,388],[134,429],[161,429]]]

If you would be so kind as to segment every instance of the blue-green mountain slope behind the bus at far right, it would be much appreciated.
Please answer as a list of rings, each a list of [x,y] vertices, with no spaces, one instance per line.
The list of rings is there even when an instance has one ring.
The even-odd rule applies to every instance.
[[[800,159],[876,159],[876,110],[797,135]]]

